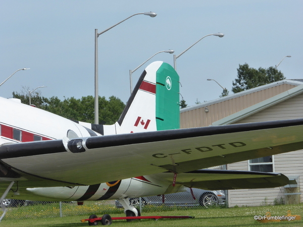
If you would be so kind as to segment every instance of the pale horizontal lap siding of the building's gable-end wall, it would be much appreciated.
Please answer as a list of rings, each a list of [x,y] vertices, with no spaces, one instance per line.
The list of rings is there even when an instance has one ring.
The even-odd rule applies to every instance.
[[[263,111],[249,116],[236,123],[263,122],[303,118],[303,94],[287,99]],[[274,155],[274,172],[282,173],[287,177],[299,176],[299,192],[303,193],[303,150]],[[247,171],[248,161],[241,161],[227,165],[228,169]],[[229,190],[229,207],[235,205],[259,206],[274,204],[281,198],[285,201],[284,187],[270,189]],[[303,196],[300,196],[303,202]]]

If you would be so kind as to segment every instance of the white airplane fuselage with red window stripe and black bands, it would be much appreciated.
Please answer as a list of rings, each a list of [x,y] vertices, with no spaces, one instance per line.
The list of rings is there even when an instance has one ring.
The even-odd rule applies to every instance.
[[[66,137],[90,137],[87,128],[53,113],[20,103],[18,99],[0,97],[0,146],[6,143],[56,140]],[[116,125],[106,126],[108,134],[117,132]],[[96,132],[95,132],[96,133]],[[98,136],[100,134],[96,133]],[[21,163],[21,165],[24,163]],[[130,163],[135,168],[135,163]],[[119,168],[119,166],[117,166]],[[106,174],[106,173],[105,173]],[[152,175],[91,186],[28,188],[36,200],[84,201],[142,197],[185,191],[186,187],[171,187],[171,182]],[[15,197],[17,198],[17,197]],[[23,199],[22,194],[20,199]],[[25,198],[24,198],[25,199]]]

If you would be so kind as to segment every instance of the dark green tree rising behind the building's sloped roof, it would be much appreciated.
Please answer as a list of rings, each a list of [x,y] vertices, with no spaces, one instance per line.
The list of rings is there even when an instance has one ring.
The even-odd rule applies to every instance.
[[[233,87],[231,91],[233,93],[286,79],[281,71],[272,66],[268,69],[260,67],[257,70],[249,68],[247,63],[243,65],[239,64],[237,72],[237,79],[232,81]]]

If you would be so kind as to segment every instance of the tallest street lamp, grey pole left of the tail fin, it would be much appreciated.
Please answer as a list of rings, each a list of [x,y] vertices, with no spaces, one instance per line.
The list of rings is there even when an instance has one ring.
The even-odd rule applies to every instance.
[[[139,13],[143,14],[149,17],[156,17],[157,14],[154,12],[146,12],[146,13]],[[139,14],[134,14],[128,18],[126,18],[123,21],[126,21],[127,19],[139,15]],[[94,49],[94,86],[95,86],[95,93],[94,93],[94,124],[99,124],[99,104],[98,104],[98,37],[99,35],[107,32],[108,30],[112,29],[113,27],[117,26],[118,24],[121,24],[123,21],[120,21],[119,23],[113,25],[112,27],[109,27],[108,29],[104,30],[103,32],[98,33],[98,29],[95,29],[95,49]]]

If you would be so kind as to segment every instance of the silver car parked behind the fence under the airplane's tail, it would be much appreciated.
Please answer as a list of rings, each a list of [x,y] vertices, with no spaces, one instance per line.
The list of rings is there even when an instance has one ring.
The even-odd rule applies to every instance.
[[[203,189],[192,188],[193,196],[188,188],[185,192],[173,194],[142,197],[142,206],[144,205],[167,205],[167,206],[204,206],[224,205],[225,194],[223,190],[207,191]],[[164,200],[163,200],[164,199]],[[131,205],[139,205],[139,198],[130,198]],[[163,203],[164,201],[164,203]],[[122,205],[116,200],[117,208],[122,208]]]

